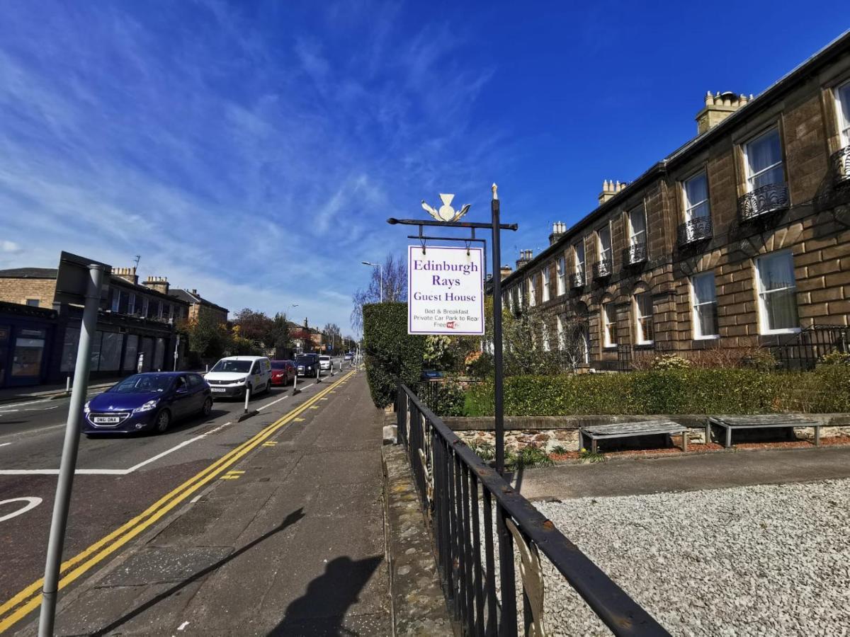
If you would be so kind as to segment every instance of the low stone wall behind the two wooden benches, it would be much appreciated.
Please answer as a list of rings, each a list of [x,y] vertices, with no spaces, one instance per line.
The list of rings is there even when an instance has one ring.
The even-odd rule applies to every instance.
[[[850,414],[809,414],[823,424],[820,437],[850,436]],[[706,443],[705,414],[676,415],[588,415],[588,416],[507,416],[505,418],[505,447],[512,451],[535,445],[551,453],[556,447],[578,450],[579,428],[609,425],[617,422],[669,419],[689,426],[689,443]],[[491,417],[445,417],[444,422],[467,444],[493,444],[494,420]],[[814,439],[812,427],[795,427],[796,436]],[[751,432],[752,433],[752,432]]]

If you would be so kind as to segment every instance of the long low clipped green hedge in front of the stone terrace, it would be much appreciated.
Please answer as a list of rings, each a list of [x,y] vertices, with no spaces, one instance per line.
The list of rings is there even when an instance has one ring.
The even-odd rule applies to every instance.
[[[492,382],[467,394],[468,415],[493,414]],[[505,414],[769,414],[850,412],[850,367],[812,372],[667,369],[627,374],[513,376]]]

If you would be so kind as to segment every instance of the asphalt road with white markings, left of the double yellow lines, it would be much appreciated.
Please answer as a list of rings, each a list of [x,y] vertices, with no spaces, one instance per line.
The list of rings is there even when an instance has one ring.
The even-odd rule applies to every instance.
[[[241,401],[217,401],[207,418],[174,423],[158,436],[81,437],[65,560],[340,378],[337,371],[320,384],[299,381],[303,391],[296,396],[291,386],[275,387],[252,399],[259,414],[241,423]],[[42,577],[67,409],[67,399],[0,407],[0,632],[19,606],[15,595]]]

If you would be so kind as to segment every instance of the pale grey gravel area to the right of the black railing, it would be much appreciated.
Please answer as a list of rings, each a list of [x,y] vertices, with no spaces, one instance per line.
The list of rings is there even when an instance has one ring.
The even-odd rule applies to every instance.
[[[674,635],[850,634],[850,480],[536,503]],[[550,634],[610,634],[545,562]]]

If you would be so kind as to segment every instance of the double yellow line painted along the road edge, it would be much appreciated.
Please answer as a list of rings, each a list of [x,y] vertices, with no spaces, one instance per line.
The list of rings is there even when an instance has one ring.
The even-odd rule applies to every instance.
[[[250,438],[239,447],[233,449],[228,454],[225,454],[218,460],[209,465],[206,469],[191,477],[189,480],[175,488],[170,493],[167,493],[161,499],[157,500],[153,505],[150,505],[146,510],[140,513],[133,519],[125,522],[115,531],[100,538],[97,542],[83,550],[82,553],[74,555],[70,560],[62,563],[59,568],[59,574],[62,576],[59,579],[59,590],[79,578],[83,573],[94,567],[100,561],[120,549],[124,544],[127,544],[131,539],[135,538],[144,529],[150,527],[162,516],[165,516],[168,511],[179,505],[192,493],[215,480],[215,478],[226,471],[230,466],[234,465],[237,460],[244,455],[249,454],[254,448],[257,448],[267,438],[272,436],[281,427],[286,426],[298,414],[301,414],[305,409],[309,409],[313,403],[317,403],[321,397],[324,397],[328,392],[338,384],[347,381],[348,378],[354,375],[354,371],[348,372],[338,381],[317,393],[296,409],[292,409],[289,413],[276,420],[271,425],[267,426],[263,431],[260,431],[256,436]],[[28,613],[36,609],[42,603],[42,584],[43,579],[38,579],[31,583],[26,589],[23,589],[17,595],[0,606],[0,633],[18,623]]]

